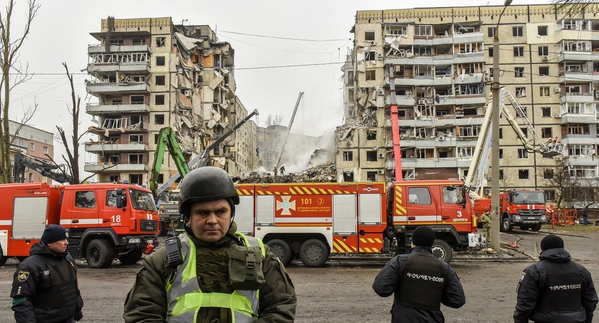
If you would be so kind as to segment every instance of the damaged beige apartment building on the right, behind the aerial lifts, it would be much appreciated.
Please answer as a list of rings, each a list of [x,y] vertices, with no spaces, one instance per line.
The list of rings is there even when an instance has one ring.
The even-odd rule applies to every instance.
[[[341,68],[346,122],[336,131],[340,179],[394,180],[399,156],[392,147],[391,79],[401,177],[464,178],[490,102],[495,32],[501,86],[524,107],[539,137],[535,144],[558,137],[567,144],[563,158],[573,174],[596,177],[599,19],[573,19],[553,8],[510,5],[498,31],[503,6],[358,11],[350,31],[354,44]],[[533,137],[525,125],[522,130]],[[500,180],[502,187],[541,188],[543,168],[562,156],[527,153],[502,118],[500,158],[500,179],[488,176],[487,186]]]

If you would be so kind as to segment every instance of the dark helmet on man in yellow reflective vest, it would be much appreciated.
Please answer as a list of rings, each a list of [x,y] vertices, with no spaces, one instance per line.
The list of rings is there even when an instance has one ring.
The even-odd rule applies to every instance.
[[[195,202],[221,198],[231,198],[234,205],[239,204],[239,195],[229,174],[213,166],[195,168],[181,180],[179,212],[187,213],[186,210]]]

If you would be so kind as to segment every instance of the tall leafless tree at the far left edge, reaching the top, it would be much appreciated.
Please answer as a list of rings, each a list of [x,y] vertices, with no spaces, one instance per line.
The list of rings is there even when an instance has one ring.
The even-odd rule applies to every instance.
[[[10,183],[11,179],[11,164],[10,164],[10,145],[13,143],[14,137],[19,133],[23,125],[31,119],[37,104],[34,107],[23,108],[23,117],[20,120],[20,126],[14,129],[14,134],[11,136],[9,129],[8,108],[10,105],[10,92],[14,87],[31,79],[32,74],[28,73],[29,65],[23,67],[20,64],[19,56],[23,41],[29,34],[29,28],[33,22],[40,5],[35,0],[28,1],[28,11],[26,14],[26,22],[22,32],[13,32],[13,17],[14,0],[9,0],[4,13],[0,13],[0,68],[2,68],[2,76],[0,77],[0,108],[2,108],[2,116],[0,117],[0,183]],[[17,66],[18,65],[18,66]]]

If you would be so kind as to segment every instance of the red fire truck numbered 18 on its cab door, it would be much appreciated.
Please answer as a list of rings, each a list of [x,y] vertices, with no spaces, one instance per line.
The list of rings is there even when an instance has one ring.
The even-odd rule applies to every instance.
[[[158,242],[158,212],[149,189],[123,184],[0,185],[0,265],[29,256],[46,225],[68,230],[69,252],[91,268],[114,258],[134,264]]]

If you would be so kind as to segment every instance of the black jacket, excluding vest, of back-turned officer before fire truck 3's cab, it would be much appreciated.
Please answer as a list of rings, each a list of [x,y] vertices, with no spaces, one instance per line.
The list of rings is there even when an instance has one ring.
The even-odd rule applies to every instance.
[[[431,248],[428,247],[413,247],[409,253],[412,252],[425,252],[432,254]],[[398,298],[398,293],[401,287],[401,279],[404,276],[407,259],[408,255],[398,255],[391,259],[385,265],[385,267],[383,267],[376,279],[374,279],[374,292],[382,297],[388,297],[395,293],[395,298]],[[443,287],[441,304],[453,307],[454,309],[459,309],[459,307],[462,307],[462,305],[466,303],[464,288],[462,288],[462,283],[459,282],[458,274],[453,271],[452,267],[443,261],[441,261],[441,264],[443,265],[445,276],[447,277],[446,283]],[[443,313],[441,313],[440,310],[415,309],[413,307],[402,306],[396,302],[393,303],[391,313],[393,323],[445,322]]]

